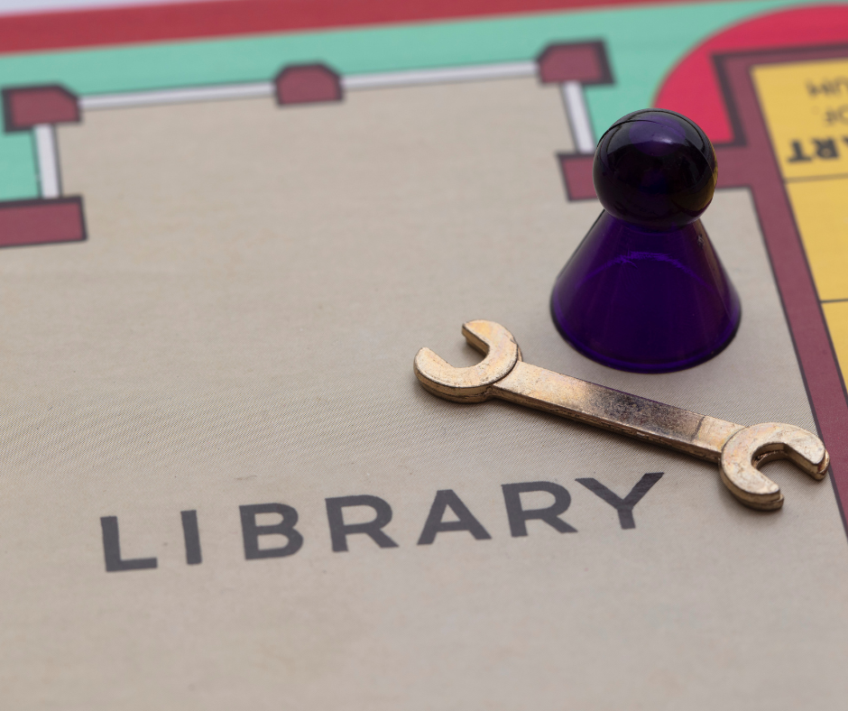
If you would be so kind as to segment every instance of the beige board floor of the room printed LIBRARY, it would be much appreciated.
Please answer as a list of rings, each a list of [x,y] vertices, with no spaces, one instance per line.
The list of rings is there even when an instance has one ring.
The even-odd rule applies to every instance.
[[[786,505],[753,512],[714,465],[438,400],[412,374],[425,345],[474,362],[460,326],[493,319],[533,365],[814,427],[746,191],[705,216],[742,297],[723,354],[625,374],[558,337],[549,290],[599,210],[564,198],[564,113],[556,88],[516,79],[60,129],[88,242],[0,259],[2,706],[843,708],[829,481],[769,465]],[[623,496],[660,471],[626,531],[575,481]],[[511,537],[501,485],[539,480],[567,487],[576,533]],[[440,489],[492,539],[416,545]],[[391,503],[398,548],[332,552],[324,500],[351,494]],[[303,547],[245,560],[238,507],[269,502],[297,509]],[[105,572],[107,515],[124,557],[158,568]]]

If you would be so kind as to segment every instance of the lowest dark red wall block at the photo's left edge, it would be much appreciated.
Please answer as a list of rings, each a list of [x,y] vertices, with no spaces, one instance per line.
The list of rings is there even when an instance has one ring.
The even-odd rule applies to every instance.
[[[82,198],[0,202],[0,247],[81,242]]]

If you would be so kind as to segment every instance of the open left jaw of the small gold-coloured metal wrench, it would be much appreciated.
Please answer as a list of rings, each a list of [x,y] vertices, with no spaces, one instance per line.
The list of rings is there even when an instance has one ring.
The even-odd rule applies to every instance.
[[[425,390],[453,402],[483,402],[491,386],[505,378],[521,360],[512,334],[494,321],[468,321],[462,327],[470,346],[485,355],[477,365],[455,368],[429,348],[415,356],[415,375]]]

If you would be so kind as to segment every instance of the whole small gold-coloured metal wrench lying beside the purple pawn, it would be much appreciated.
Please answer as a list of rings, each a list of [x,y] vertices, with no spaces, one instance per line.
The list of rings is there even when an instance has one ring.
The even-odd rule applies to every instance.
[[[468,321],[462,332],[485,354],[477,365],[455,368],[429,348],[415,356],[420,383],[441,398],[501,398],[718,462],[724,485],[754,509],[783,505],[780,487],[758,470],[771,459],[788,458],[814,479],[825,478],[830,457],[806,429],[779,422],[745,427],[529,365],[512,334],[493,321]]]

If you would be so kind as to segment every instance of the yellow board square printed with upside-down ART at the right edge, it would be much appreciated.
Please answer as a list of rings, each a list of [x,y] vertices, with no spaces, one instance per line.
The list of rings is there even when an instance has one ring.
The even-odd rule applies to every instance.
[[[848,60],[755,67],[784,179],[848,176]]]

